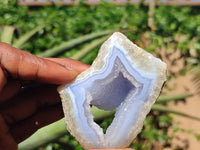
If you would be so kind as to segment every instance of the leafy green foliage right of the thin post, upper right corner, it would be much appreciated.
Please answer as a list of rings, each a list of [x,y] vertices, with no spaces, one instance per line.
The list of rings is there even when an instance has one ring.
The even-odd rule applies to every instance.
[[[160,40],[156,46],[165,45],[167,43],[175,43],[174,48],[180,48],[182,51],[188,52],[191,47],[200,52],[199,35],[200,35],[200,14],[199,8],[196,7],[178,7],[178,6],[159,6],[154,11],[154,21],[156,29],[152,36],[154,41]],[[185,39],[177,39],[177,35],[184,35]],[[195,42],[191,42],[192,38],[197,38]],[[153,47],[153,48],[155,48]]]

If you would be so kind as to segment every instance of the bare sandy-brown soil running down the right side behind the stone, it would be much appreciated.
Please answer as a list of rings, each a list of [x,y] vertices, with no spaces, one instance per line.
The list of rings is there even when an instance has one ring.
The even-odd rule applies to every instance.
[[[187,98],[185,102],[172,102],[169,104],[169,107],[189,115],[200,117],[200,90],[194,86],[194,80],[192,80],[194,76],[191,72],[188,72],[184,76],[180,75],[180,72],[185,69],[186,58],[182,55],[180,49],[174,50],[173,43],[171,43],[171,46],[169,43],[168,47],[172,48],[166,49],[165,47],[161,47],[156,50],[159,57],[167,63],[167,74],[172,76],[172,79],[166,83],[167,88],[164,88],[162,92],[169,95],[193,94],[193,96]],[[198,92],[199,95],[197,94]],[[194,134],[197,133],[200,135],[200,121],[178,115],[173,115],[173,120],[174,126],[178,124],[179,128],[185,131],[192,130],[192,133],[178,131],[173,135],[173,130],[170,129],[169,134],[173,135],[172,147],[165,150],[199,150],[200,141],[197,141]]]

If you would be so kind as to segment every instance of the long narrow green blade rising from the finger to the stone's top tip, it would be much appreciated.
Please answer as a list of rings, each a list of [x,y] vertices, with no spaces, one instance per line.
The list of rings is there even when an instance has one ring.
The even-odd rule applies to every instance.
[[[40,54],[38,54],[37,56],[39,57],[53,57],[53,56],[58,56],[60,54],[62,54],[63,52],[65,52],[66,50],[69,50],[70,48],[74,48],[82,43],[91,41],[93,39],[96,39],[98,37],[104,36],[104,35],[108,35],[111,34],[113,31],[108,30],[108,31],[99,31],[99,32],[95,32],[95,33],[90,33],[84,36],[81,36],[79,38],[67,41],[67,42],[63,42],[60,45],[53,47],[51,49],[48,49]]]

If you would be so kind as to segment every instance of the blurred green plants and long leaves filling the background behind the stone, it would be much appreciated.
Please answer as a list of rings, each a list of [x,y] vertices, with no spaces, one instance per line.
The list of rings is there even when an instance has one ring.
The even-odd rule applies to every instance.
[[[123,32],[130,40],[160,57],[168,64],[168,80],[189,71],[194,74],[196,93],[200,86],[200,9],[189,6],[157,6],[154,23],[148,26],[149,7],[139,5],[112,5],[102,2],[89,6],[18,6],[15,0],[0,1],[0,41],[40,57],[70,57],[91,64],[100,45],[114,31]],[[176,56],[173,56],[176,54]],[[172,57],[171,57],[172,56]],[[180,62],[180,63],[179,63]],[[177,67],[179,66],[179,67]],[[170,91],[166,83],[164,89]],[[132,142],[135,150],[170,148],[177,131],[184,130],[173,124],[174,114],[199,121],[168,107],[169,103],[184,101],[194,93],[161,94],[144,122],[142,132]],[[96,122],[106,129],[113,112],[92,109]],[[169,130],[172,134],[168,134]],[[80,145],[66,131],[64,120],[47,126],[27,141],[20,149],[81,150]],[[157,148],[157,149],[156,149]],[[187,146],[178,147],[184,150]]]

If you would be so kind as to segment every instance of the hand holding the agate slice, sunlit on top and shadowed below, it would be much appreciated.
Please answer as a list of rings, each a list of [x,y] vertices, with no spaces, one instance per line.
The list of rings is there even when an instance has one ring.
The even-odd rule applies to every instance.
[[[72,82],[88,67],[0,43],[0,149],[15,150],[36,130],[62,118],[57,85]]]

